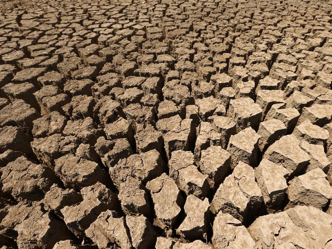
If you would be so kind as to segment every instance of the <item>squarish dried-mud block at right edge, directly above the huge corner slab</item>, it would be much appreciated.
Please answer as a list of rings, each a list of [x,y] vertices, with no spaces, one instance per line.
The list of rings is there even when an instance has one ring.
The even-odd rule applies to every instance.
[[[295,205],[312,206],[323,209],[332,198],[332,187],[327,175],[319,168],[294,178],[287,190],[290,199],[287,207]]]

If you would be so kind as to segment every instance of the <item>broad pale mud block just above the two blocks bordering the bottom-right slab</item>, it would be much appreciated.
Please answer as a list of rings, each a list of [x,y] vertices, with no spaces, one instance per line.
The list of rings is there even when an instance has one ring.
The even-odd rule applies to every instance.
[[[265,151],[263,158],[282,165],[293,176],[299,174],[310,161],[309,155],[301,149],[300,141],[294,135],[284,135],[274,142]]]

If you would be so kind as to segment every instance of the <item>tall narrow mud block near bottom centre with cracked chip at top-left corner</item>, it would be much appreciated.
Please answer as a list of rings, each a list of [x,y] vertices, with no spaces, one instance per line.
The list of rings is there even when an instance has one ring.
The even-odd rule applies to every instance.
[[[156,218],[154,224],[171,234],[171,229],[179,219],[183,197],[174,180],[163,173],[146,184],[150,191]]]

